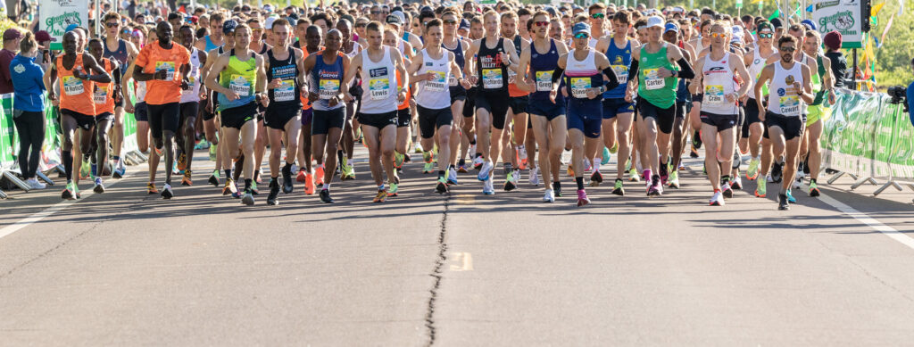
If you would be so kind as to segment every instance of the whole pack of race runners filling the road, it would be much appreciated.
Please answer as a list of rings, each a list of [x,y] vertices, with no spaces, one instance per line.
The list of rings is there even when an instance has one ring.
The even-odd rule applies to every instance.
[[[263,182],[268,205],[281,192],[333,203],[331,184],[356,178],[359,144],[375,202],[399,194],[410,161],[442,194],[472,181],[510,192],[526,175],[543,202],[568,194],[563,179],[579,206],[588,186],[659,197],[679,188],[683,156],[704,151],[709,205],[745,178],[789,209],[804,179],[819,195],[819,136],[842,83],[813,23],[707,8],[342,2],[142,20],[155,19],[112,12],[104,37],[75,26],[63,37],[44,78],[63,128],[63,198],[80,197],[80,178],[104,192],[103,163],[122,177],[122,139],[108,134],[133,113],[148,194],[165,199],[177,175],[245,205]],[[195,147],[216,170],[192,171]]]

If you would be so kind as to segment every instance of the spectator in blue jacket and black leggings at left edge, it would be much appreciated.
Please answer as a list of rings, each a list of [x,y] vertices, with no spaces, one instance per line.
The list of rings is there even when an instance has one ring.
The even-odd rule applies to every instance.
[[[32,33],[27,32],[19,41],[21,52],[5,68],[5,73],[13,78],[13,121],[19,134],[19,169],[26,184],[33,189],[45,189],[45,184],[35,178],[38,161],[41,160],[41,145],[45,142],[45,101],[42,96],[45,91],[42,77],[45,73],[35,63],[39,47]]]

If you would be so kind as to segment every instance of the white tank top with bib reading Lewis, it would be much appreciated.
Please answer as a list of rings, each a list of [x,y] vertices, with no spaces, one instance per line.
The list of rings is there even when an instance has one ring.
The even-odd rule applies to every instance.
[[[397,75],[396,68],[390,59],[390,50],[393,47],[381,46],[384,55],[380,61],[372,61],[368,57],[368,49],[362,50],[362,68],[359,75],[362,78],[364,93],[362,93],[361,112],[368,114],[387,113],[397,110]]]

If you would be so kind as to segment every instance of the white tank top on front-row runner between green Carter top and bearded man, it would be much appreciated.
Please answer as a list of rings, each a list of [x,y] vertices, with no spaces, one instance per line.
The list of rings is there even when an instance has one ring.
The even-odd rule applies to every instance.
[[[737,102],[727,102],[727,95],[739,88],[733,79],[733,69],[729,59],[733,56],[724,53],[720,60],[712,60],[711,54],[705,55],[705,68],[702,71],[704,99],[701,110],[716,114],[737,114]]]

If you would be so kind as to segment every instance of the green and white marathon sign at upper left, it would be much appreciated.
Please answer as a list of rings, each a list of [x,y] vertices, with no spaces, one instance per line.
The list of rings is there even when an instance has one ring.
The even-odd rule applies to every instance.
[[[89,0],[38,0],[41,27],[51,35],[50,49],[63,49],[67,26],[89,26]]]

